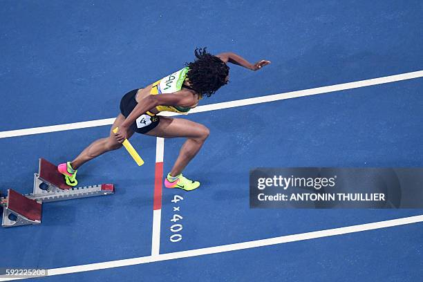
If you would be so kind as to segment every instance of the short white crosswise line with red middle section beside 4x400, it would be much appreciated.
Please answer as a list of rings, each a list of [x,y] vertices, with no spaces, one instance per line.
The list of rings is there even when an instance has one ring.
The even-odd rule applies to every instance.
[[[154,177],[153,232],[151,235],[151,256],[160,253],[160,222],[162,220],[164,139],[156,139],[156,172]]]

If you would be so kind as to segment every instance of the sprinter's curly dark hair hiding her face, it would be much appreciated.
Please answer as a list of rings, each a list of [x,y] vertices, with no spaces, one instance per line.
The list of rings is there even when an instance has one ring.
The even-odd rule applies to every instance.
[[[229,66],[218,57],[207,52],[207,48],[196,48],[196,60],[185,63],[189,67],[187,77],[191,87],[200,95],[210,97],[218,88],[227,84]]]

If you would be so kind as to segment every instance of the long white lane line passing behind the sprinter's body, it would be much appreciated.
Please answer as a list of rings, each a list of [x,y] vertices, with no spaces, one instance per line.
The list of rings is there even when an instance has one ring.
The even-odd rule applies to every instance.
[[[204,111],[227,109],[227,108],[233,108],[236,106],[246,106],[246,105],[259,104],[259,103],[265,103],[265,102],[273,102],[273,101],[291,99],[295,97],[317,95],[317,94],[323,94],[323,93],[329,93],[334,91],[341,91],[341,90],[347,90],[347,89],[353,89],[353,88],[359,88],[359,87],[365,87],[365,86],[373,86],[377,84],[386,84],[390,82],[399,82],[401,80],[413,79],[418,77],[423,77],[423,71],[414,71],[411,73],[402,73],[400,75],[377,77],[373,79],[360,80],[357,82],[348,82],[343,84],[335,84],[331,86],[310,88],[310,89],[300,90],[300,91],[292,91],[287,93],[266,95],[266,96],[254,97],[254,98],[248,98],[248,99],[242,99],[242,100],[234,100],[229,102],[208,104],[208,105],[198,106],[196,107],[196,109],[192,109],[191,111],[189,111],[189,113],[190,114],[201,113]],[[178,115],[178,114],[162,113],[162,115],[172,116],[172,115]],[[9,138],[9,137],[22,136],[22,135],[40,134],[40,133],[48,133],[48,132],[55,132],[55,131],[66,131],[71,129],[82,129],[82,128],[93,127],[93,126],[109,125],[109,124],[113,124],[114,120],[115,118],[107,118],[104,120],[92,120],[89,122],[75,122],[71,124],[59,124],[59,125],[53,125],[53,126],[34,127],[30,129],[0,131],[0,138]]]

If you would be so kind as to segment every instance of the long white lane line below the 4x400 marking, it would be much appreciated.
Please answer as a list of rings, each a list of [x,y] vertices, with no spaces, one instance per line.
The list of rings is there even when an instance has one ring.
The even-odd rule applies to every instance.
[[[218,254],[221,252],[231,252],[237,250],[251,249],[254,247],[263,247],[269,245],[277,245],[283,243],[290,243],[296,241],[304,241],[316,238],[323,238],[328,236],[337,236],[342,234],[351,234],[355,232],[363,232],[374,229],[382,229],[386,227],[395,227],[400,225],[407,225],[411,223],[422,223],[423,215],[420,216],[409,216],[406,218],[395,218],[391,220],[384,220],[375,223],[365,223],[360,225],[352,225],[346,227],[339,227],[334,229],[325,229],[315,232],[307,232],[301,234],[293,234],[287,236],[280,236],[274,238],[267,238],[262,240],[247,241],[243,243],[235,243],[229,245],[220,245],[216,247],[205,247],[196,250],[187,250],[182,252],[173,252],[168,254],[159,254],[158,256],[142,256],[133,259],[122,259],[119,261],[106,261],[103,263],[92,263],[87,265],[75,265],[69,267],[53,268],[48,270],[48,276],[71,274],[77,272],[86,272],[92,270],[104,270],[113,267],[123,267],[129,265],[139,265],[143,263],[153,263],[156,261],[169,261],[172,259],[182,259],[193,256],[203,256],[205,254]],[[12,279],[6,279],[0,281],[10,281]]]

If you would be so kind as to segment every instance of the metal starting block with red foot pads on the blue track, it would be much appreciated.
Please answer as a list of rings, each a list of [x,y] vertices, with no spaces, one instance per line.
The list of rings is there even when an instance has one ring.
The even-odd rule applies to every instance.
[[[70,200],[92,196],[114,194],[113,184],[100,184],[86,187],[71,187],[66,185],[64,177],[55,164],[39,159],[39,170],[34,176],[32,194],[21,195],[8,189],[6,197],[0,197],[3,205],[2,227],[19,225],[37,225],[41,223],[41,205],[43,202]]]

